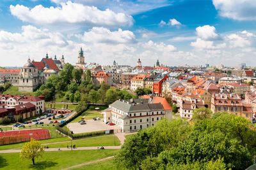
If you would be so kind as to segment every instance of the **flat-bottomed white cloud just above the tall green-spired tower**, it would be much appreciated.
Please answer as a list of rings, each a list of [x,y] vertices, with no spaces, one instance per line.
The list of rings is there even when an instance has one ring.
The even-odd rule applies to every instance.
[[[77,36],[79,37],[79,36]],[[136,43],[136,37],[131,31],[109,31],[104,27],[93,27],[88,32],[84,32],[83,41],[90,43]]]

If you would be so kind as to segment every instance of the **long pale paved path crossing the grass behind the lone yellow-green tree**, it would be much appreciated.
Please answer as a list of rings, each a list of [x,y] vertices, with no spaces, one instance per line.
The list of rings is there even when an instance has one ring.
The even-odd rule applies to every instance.
[[[99,150],[101,146],[90,146],[90,147],[78,147],[76,149],[72,149],[72,150]],[[120,149],[121,146],[104,146],[104,148],[106,150],[113,150],[113,149]],[[44,148],[45,152],[49,152],[49,151],[58,151],[59,148]],[[60,148],[60,152],[61,150],[71,150],[71,148]],[[17,152],[21,152],[21,150],[0,150],[0,153],[17,153]]]

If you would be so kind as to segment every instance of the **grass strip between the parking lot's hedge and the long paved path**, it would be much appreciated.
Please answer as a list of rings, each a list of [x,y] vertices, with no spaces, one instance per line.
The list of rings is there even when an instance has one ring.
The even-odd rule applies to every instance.
[[[71,145],[71,141],[65,143],[53,143],[49,148],[66,148]],[[87,138],[80,138],[72,141],[72,145],[76,147],[86,147],[86,146],[119,146],[120,141],[115,135],[104,135],[104,136],[93,136]]]

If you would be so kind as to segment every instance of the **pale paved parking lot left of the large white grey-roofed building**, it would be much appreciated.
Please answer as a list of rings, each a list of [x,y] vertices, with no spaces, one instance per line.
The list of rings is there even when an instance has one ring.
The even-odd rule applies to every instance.
[[[78,122],[70,123],[67,125],[67,127],[70,129],[70,131],[73,131],[74,134],[120,129],[120,127],[117,125],[107,125],[106,123],[102,122],[102,120],[86,120],[86,124],[84,125],[80,125]]]

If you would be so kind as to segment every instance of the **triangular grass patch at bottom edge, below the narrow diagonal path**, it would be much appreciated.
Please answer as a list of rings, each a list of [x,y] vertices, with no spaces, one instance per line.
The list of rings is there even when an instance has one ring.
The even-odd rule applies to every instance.
[[[107,170],[107,169],[116,169],[115,164],[114,164],[114,159],[109,159],[109,160],[103,160],[97,163],[92,163],[88,164],[85,166],[80,166],[76,168],[72,168],[72,170],[75,169],[93,169],[93,170]]]

